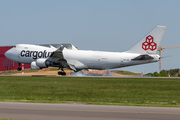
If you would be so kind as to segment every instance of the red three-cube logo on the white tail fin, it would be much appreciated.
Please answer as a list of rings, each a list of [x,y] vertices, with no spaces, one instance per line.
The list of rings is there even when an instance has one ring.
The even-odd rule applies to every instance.
[[[142,43],[142,49],[154,51],[156,48],[157,44],[154,42],[154,38],[151,35],[147,36],[146,41]]]

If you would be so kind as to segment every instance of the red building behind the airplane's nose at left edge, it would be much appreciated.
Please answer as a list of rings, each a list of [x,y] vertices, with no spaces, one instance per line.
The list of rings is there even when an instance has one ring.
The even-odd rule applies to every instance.
[[[7,59],[4,53],[11,49],[13,46],[2,46],[0,47],[0,71],[15,70],[18,68],[18,64],[14,61]],[[31,68],[30,65],[25,64],[25,68]]]

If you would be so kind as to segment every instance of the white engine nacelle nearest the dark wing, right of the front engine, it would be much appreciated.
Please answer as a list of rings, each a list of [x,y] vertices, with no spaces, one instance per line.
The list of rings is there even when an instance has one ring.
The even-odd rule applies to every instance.
[[[36,60],[36,65],[40,68],[47,68],[48,66],[53,65],[53,63],[47,59],[40,58]]]

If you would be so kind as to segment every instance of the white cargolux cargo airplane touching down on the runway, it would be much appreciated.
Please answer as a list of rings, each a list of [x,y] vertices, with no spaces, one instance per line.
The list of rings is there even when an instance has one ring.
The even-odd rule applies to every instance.
[[[132,48],[125,52],[78,50],[72,44],[17,44],[5,56],[19,63],[30,64],[32,69],[59,67],[59,75],[66,75],[63,68],[78,72],[82,69],[114,69],[158,62],[156,54],[166,26],[157,26]]]

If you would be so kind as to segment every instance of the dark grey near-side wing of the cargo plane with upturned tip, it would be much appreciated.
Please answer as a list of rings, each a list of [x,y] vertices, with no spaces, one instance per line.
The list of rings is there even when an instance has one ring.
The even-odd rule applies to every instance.
[[[68,64],[67,61],[64,59],[63,51],[64,46],[61,45],[56,51],[54,51],[51,56],[48,58],[50,61],[54,61],[54,65],[58,65],[59,68],[67,68],[70,70],[77,71],[74,65]]]

